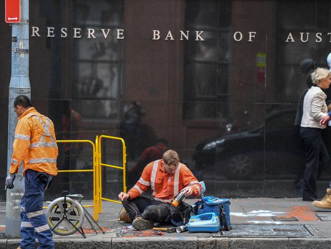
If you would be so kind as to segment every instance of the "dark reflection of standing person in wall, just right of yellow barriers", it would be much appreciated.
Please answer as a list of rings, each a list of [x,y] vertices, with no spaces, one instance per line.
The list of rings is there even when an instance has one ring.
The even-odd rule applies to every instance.
[[[133,101],[123,108],[123,123],[128,156],[131,159],[139,157],[141,145],[141,118],[145,110],[139,102]]]

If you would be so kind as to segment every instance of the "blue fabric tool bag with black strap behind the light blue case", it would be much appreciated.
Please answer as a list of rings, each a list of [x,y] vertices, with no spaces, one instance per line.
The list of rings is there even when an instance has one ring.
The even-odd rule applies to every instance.
[[[205,196],[202,201],[198,203],[198,215],[204,213],[214,212],[220,220],[221,230],[231,230],[230,221],[230,200],[221,199],[214,196]]]

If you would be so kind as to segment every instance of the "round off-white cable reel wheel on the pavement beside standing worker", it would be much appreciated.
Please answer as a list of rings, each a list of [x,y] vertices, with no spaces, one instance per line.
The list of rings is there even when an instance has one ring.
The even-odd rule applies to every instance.
[[[64,217],[64,210],[66,210],[68,220],[77,229],[81,227],[84,222],[84,210],[80,203],[69,197],[66,197],[66,203],[64,203],[64,197],[60,197],[52,201],[46,209],[45,214],[50,230],[57,226],[59,221]],[[59,235],[70,235],[77,232],[68,220],[63,219],[52,232]]]

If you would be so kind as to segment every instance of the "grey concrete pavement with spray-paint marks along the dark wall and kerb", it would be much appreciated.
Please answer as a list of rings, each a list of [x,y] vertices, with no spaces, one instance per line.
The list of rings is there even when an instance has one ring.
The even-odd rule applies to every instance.
[[[196,200],[187,200],[192,204]],[[92,202],[82,202],[89,205]],[[221,233],[164,233],[127,230],[117,221],[121,205],[103,202],[98,234],[85,220],[85,239],[79,233],[54,234],[56,248],[331,248],[331,209],[315,208],[300,198],[240,198],[231,200],[231,231]],[[0,203],[4,235],[6,203]],[[92,214],[92,209],[88,209]],[[285,221],[285,219],[296,219]],[[164,226],[163,226],[164,227]],[[4,236],[2,236],[4,237]],[[19,239],[0,239],[0,248],[17,248]]]

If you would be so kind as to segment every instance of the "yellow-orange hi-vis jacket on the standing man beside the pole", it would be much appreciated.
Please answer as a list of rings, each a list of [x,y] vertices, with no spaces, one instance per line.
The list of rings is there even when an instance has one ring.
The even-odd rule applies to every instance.
[[[27,109],[18,117],[9,172],[23,165],[23,175],[33,169],[56,176],[58,154],[53,122],[34,107]]]

